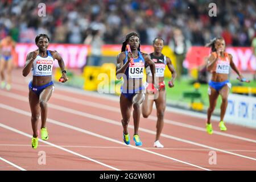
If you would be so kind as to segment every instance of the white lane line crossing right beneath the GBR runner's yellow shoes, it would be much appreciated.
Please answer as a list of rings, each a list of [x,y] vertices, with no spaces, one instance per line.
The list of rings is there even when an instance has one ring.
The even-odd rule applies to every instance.
[[[23,135],[23,136],[25,136],[25,137],[32,138],[32,135],[29,135],[29,134],[27,134],[27,133],[24,133],[23,131],[14,129],[13,127],[4,125],[3,123],[0,123],[0,126],[3,127],[3,128],[5,128],[5,129],[7,129],[7,130],[14,131],[15,133],[18,133],[18,134]],[[84,155],[81,155],[81,154],[79,154],[79,153],[77,153],[77,152],[68,150],[67,148],[63,148],[63,147],[57,146],[56,144],[53,144],[53,143],[44,141],[44,140],[42,140],[42,139],[40,139],[40,138],[39,138],[38,140],[39,140],[40,142],[43,142],[43,143],[48,144],[49,146],[52,146],[52,147],[55,147],[55,148],[59,148],[60,150],[66,151],[66,152],[71,153],[71,154],[73,154],[73,155],[80,156],[80,158],[84,158],[84,159],[90,160],[90,161],[92,161],[92,162],[94,162],[94,163],[100,164],[100,165],[102,165],[102,166],[105,166],[105,167],[114,169],[114,170],[116,170],[116,171],[120,171],[120,169],[117,169],[117,168],[115,168],[115,167],[109,166],[108,164],[104,164],[104,163],[99,162],[99,161],[97,161],[97,160],[94,160],[94,159],[92,159],[92,158],[88,158],[87,156],[84,156]]]

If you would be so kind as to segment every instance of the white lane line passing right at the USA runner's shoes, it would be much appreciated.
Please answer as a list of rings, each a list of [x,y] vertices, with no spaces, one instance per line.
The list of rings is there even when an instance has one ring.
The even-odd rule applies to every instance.
[[[9,105],[4,105],[4,104],[1,104],[0,103],[0,108],[2,109],[6,109],[6,110],[10,110],[10,111],[13,111],[15,113],[19,113],[19,114],[23,114],[23,115],[27,115],[28,117],[30,117],[31,113],[28,113],[27,111],[24,111],[24,110],[20,110],[20,109],[17,109],[15,107],[11,107]],[[100,135],[100,134],[96,134],[96,133],[93,133],[91,131],[88,131],[88,130],[84,130],[84,129],[81,129],[79,127],[75,127],[75,126],[72,126],[72,125],[68,125],[68,124],[65,124],[63,122],[59,122],[59,121],[56,121],[56,120],[53,120],[53,119],[47,119],[47,122],[49,123],[53,123],[55,125],[59,125],[59,126],[63,126],[63,127],[67,127],[68,129],[72,129],[72,130],[76,130],[76,131],[80,131],[81,133],[85,133],[85,134],[89,134],[89,135],[92,135],[94,137],[98,137],[98,138],[101,138],[101,139],[105,139],[105,140],[109,140],[111,142],[114,142],[114,143],[118,143],[118,144],[122,144],[123,146],[126,146],[125,143],[123,142],[120,142],[118,140],[115,140],[115,139],[112,139],[112,138],[109,138],[109,137],[105,137],[103,135]],[[2,126],[3,124],[0,123],[0,126]],[[15,131],[18,132],[22,132],[22,131],[18,131],[16,129],[14,129]],[[20,133],[21,134],[21,133]],[[27,137],[32,137],[31,135],[28,135],[28,134],[25,134],[25,133],[22,133],[23,135],[26,135]],[[40,141],[43,141],[44,143],[46,143],[46,141],[44,140],[41,140],[39,139]],[[49,142],[47,142],[47,144],[49,144]],[[52,145],[52,144],[49,144],[49,145]],[[59,147],[59,146],[58,146]],[[166,155],[162,155],[162,154],[159,154],[159,153],[156,153],[156,152],[152,152],[150,150],[146,150],[144,148],[139,148],[139,147],[135,147],[135,146],[132,146],[132,145],[127,145],[127,147],[132,147],[132,148],[135,148],[137,150],[141,150],[141,151],[144,151],[144,152],[147,152],[147,153],[150,153],[150,154],[154,154],[154,155],[158,155],[158,156],[161,156],[163,158],[166,158],[166,159],[171,159],[171,160],[174,160],[176,162],[180,162],[180,163],[183,163],[183,164],[187,164],[189,166],[193,166],[193,167],[197,167],[197,168],[200,168],[200,169],[204,169],[204,170],[207,170],[207,171],[210,171],[210,169],[207,169],[207,168],[203,168],[203,167],[200,167],[200,166],[196,166],[195,164],[191,164],[191,163],[187,163],[187,162],[184,162],[183,160],[179,160],[179,159],[175,159],[175,158],[171,158],[170,156],[166,156]],[[65,149],[65,148],[63,148]],[[67,150],[67,149],[65,149]]]

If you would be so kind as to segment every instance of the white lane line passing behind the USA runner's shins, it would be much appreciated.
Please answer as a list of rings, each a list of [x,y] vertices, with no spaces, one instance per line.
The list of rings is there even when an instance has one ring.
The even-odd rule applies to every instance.
[[[1,94],[1,92],[0,92],[0,94]],[[13,96],[12,98],[15,98],[17,100],[22,100],[22,101],[27,100],[27,97],[19,96],[18,94],[11,94],[11,95]],[[6,92],[6,94],[4,94],[3,96],[10,97],[8,92]],[[5,106],[7,106],[7,105],[5,105]],[[1,106],[1,107],[3,109],[7,109],[4,106]],[[9,107],[9,110],[11,110],[10,108],[16,109],[14,107],[10,107],[10,106],[8,106],[8,107]],[[51,107],[52,109],[60,110],[60,111],[63,111],[63,112],[80,115],[80,116],[85,117],[85,118],[96,119],[98,121],[102,121],[102,122],[106,122],[106,123],[111,123],[113,125],[122,126],[121,122],[117,122],[117,121],[114,121],[114,120],[108,119],[108,118],[103,118],[103,117],[100,117],[98,115],[93,115],[93,114],[85,113],[85,112],[82,112],[82,111],[77,111],[77,110],[69,109],[68,107],[63,107],[63,106],[59,106],[59,105],[55,105],[55,104],[48,104],[48,107]],[[131,125],[129,125],[128,127],[130,129],[133,129],[133,126],[131,126]],[[144,129],[142,127],[140,127],[139,130],[140,131],[144,131],[145,133],[153,134],[153,135],[156,134],[155,131]],[[201,144],[201,143],[197,143],[197,142],[192,142],[191,140],[181,139],[181,138],[173,137],[173,136],[167,135],[167,134],[161,134],[161,136],[165,137],[165,138],[169,138],[169,139],[174,139],[174,140],[177,140],[179,142],[189,143],[189,144],[193,144],[195,146],[199,146],[199,147],[203,147],[203,148],[208,148],[210,150],[216,150],[216,151],[224,152],[226,154],[231,154],[231,155],[239,156],[241,158],[246,158],[246,159],[250,159],[250,160],[256,160],[255,158],[251,158],[249,156],[240,155],[240,154],[236,154],[234,152],[229,152],[229,151],[221,150],[220,148],[216,148],[216,147],[210,147],[210,146],[207,146],[205,144]]]

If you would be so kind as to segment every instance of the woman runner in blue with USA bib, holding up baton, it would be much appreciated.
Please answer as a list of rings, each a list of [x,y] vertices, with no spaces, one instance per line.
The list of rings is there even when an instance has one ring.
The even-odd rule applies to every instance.
[[[129,44],[131,51],[126,51],[126,45]],[[131,64],[131,58],[134,64]],[[117,56],[116,75],[117,78],[123,77],[122,93],[120,96],[120,107],[122,113],[123,141],[130,144],[128,124],[133,107],[134,121],[134,142],[136,146],[142,146],[138,135],[139,119],[141,117],[141,107],[144,100],[145,88],[142,82],[145,63],[150,66],[152,77],[155,76],[155,64],[150,56],[140,52],[139,35],[131,32],[126,35],[125,42],[122,44],[122,52]],[[155,78],[155,77],[154,77]],[[153,84],[155,80],[153,79]]]

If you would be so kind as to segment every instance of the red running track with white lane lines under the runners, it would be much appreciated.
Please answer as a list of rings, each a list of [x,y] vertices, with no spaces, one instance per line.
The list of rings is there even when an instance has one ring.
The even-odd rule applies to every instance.
[[[256,169],[254,129],[227,124],[228,131],[221,133],[218,123],[213,122],[214,134],[208,135],[204,130],[206,116],[192,116],[187,111],[180,114],[168,108],[160,138],[164,148],[152,147],[155,110],[149,118],[141,118],[142,147],[134,144],[131,119],[131,144],[127,146],[122,141],[118,97],[59,84],[48,102],[49,140],[40,140],[38,148],[33,150],[29,78],[21,76],[21,69],[13,73],[11,91],[0,90],[0,170]],[[46,156],[45,164],[42,154]]]

